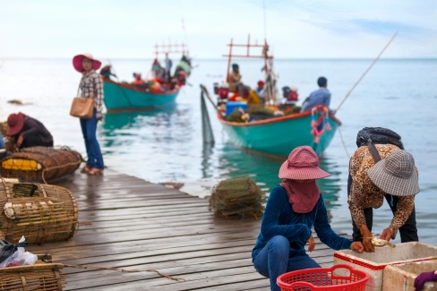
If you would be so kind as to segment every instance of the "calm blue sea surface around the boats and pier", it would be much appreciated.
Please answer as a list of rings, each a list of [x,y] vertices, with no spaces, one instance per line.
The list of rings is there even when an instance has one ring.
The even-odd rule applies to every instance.
[[[278,87],[296,85],[302,101],[317,88],[324,75],[336,108],[373,60],[276,60]],[[131,81],[133,72],[145,76],[150,60],[106,60],[121,80]],[[176,60],[174,60],[174,64]],[[242,60],[245,83],[262,78],[261,62]],[[193,73],[167,110],[107,114],[98,135],[106,166],[153,183],[183,182],[182,191],[200,197],[223,179],[250,175],[267,193],[278,184],[281,160],[261,157],[233,146],[208,104],[215,144],[201,139],[199,88],[211,91],[212,83],[225,78],[227,61],[193,60]],[[79,120],[69,116],[81,75],[71,60],[0,60],[0,121],[21,111],[36,117],[54,135],[56,145],[67,145],[85,156]],[[7,103],[17,99],[25,105]],[[420,240],[437,245],[437,60],[380,60],[352,91],[338,110],[343,122],[330,147],[321,157],[321,167],[331,176],[319,181],[328,201],[331,226],[351,233],[347,209],[347,164],[356,150],[356,133],[364,126],[388,127],[402,136],[406,150],[416,159],[421,192],[416,196]],[[374,211],[374,232],[390,224],[392,214],[385,203]],[[398,238],[395,240],[398,243]]]

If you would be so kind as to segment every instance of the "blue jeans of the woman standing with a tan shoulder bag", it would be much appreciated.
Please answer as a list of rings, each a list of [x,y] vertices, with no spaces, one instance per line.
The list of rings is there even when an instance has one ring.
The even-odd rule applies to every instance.
[[[94,112],[90,119],[80,119],[81,130],[88,155],[87,166],[103,170],[103,157],[100,151],[99,141],[97,141],[96,137],[98,123],[96,113],[96,109],[94,108]]]

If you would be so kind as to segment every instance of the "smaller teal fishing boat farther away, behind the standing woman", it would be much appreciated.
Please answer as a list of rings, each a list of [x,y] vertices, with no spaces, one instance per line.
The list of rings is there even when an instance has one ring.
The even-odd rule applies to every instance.
[[[175,46],[173,46],[175,47]],[[165,54],[166,56],[173,53],[181,53],[182,58],[179,64],[176,65],[175,73],[165,74],[158,62],[158,56]],[[136,81],[128,83],[125,81],[111,80],[111,75],[115,74],[103,70],[110,70],[110,65],[105,66],[100,74],[103,80],[104,102],[107,107],[107,112],[123,112],[123,111],[148,111],[157,108],[167,107],[175,104],[176,97],[181,88],[185,85],[186,78],[191,73],[191,61],[188,57],[188,51],[184,44],[182,50],[172,49],[171,46],[156,46],[156,58],[154,65],[162,70],[161,74],[153,73],[152,78],[141,80],[140,73],[133,73]]]

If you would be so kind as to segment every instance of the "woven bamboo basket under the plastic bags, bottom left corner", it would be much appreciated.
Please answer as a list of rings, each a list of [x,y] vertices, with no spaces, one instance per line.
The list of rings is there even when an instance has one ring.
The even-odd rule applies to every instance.
[[[0,290],[55,291],[66,284],[62,264],[52,263],[50,255],[38,255],[34,265],[0,268]]]

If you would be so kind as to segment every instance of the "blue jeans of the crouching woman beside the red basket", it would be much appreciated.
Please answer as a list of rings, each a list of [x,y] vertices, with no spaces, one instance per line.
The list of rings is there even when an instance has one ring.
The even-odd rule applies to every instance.
[[[321,266],[310,258],[306,253],[288,258],[290,243],[287,237],[282,235],[273,236],[269,243],[258,253],[253,260],[253,266],[262,276],[270,278],[270,290],[279,291],[276,279],[287,272],[321,268]]]

